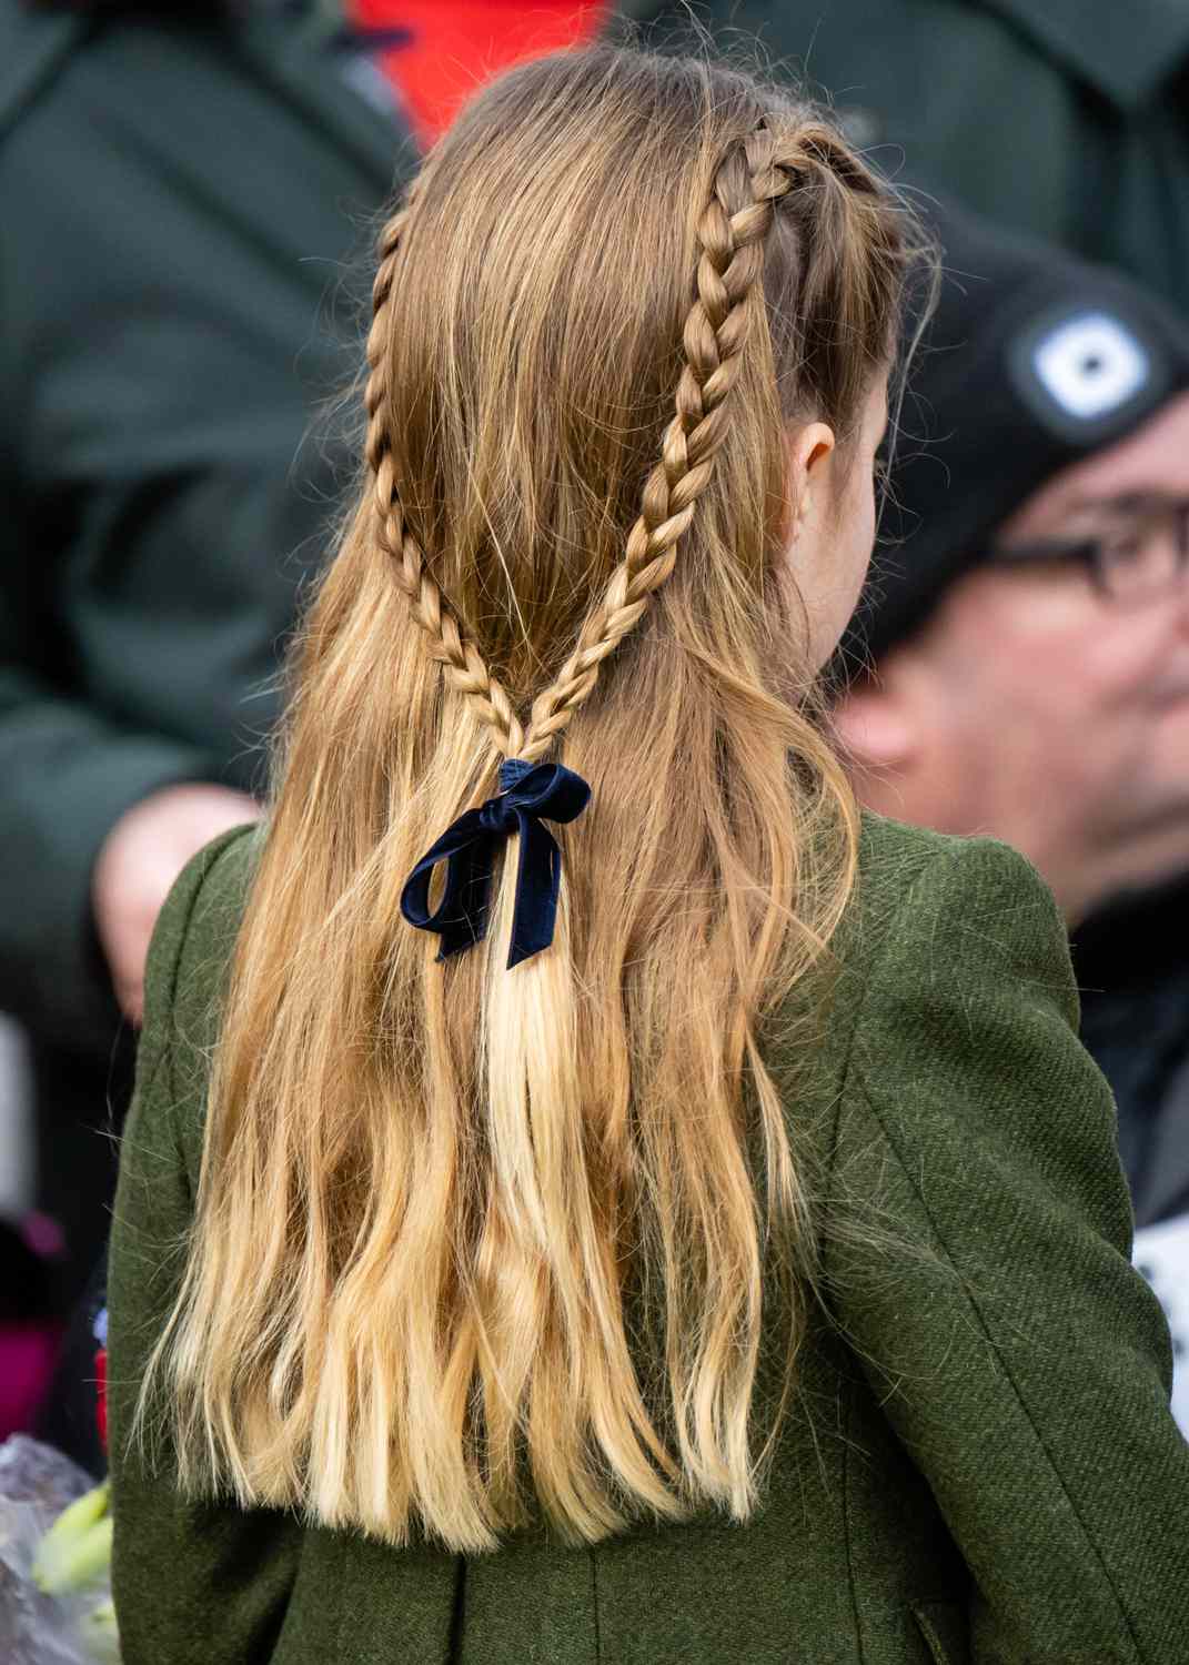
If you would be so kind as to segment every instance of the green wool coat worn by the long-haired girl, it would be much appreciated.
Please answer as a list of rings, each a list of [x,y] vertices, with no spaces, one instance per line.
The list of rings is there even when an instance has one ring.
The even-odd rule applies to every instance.
[[[1066,936],[989,841],[868,819],[816,1034],[768,1036],[821,1200],[823,1297],[764,1507],[393,1550],[180,1500],[125,1449],[198,1180],[210,1011],[256,839],[162,916],[110,1269],[125,1665],[1184,1665],[1189,1445],[1131,1269]],[[823,986],[824,987],[824,986]]]

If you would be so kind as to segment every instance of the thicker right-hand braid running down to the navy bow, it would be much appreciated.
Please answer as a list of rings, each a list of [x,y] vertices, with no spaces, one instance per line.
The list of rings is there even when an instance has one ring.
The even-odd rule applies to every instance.
[[[774,203],[806,165],[799,145],[778,157],[759,130],[746,140],[753,200],[738,213],[726,205],[724,168],[698,223],[694,303],[684,321],[684,366],[676,413],[664,431],[661,461],[644,485],[641,513],[628,534],[599,606],[588,616],[555,683],[536,698],[518,756],[541,758],[575,711],[590,698],[603,661],[648,611],[653,594],[676,564],[678,541],[693,519],[698,498],[714,475],[714,458],[726,438],[728,395],[734,386],[754,308],[749,298],[763,278],[764,238]]]

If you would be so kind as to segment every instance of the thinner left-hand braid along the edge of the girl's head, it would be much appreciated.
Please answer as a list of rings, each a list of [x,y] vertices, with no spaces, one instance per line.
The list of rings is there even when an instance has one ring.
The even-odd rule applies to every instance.
[[[446,683],[456,693],[473,701],[481,719],[491,728],[496,748],[508,758],[520,754],[523,728],[505,688],[488,671],[483,656],[471,641],[465,641],[458,621],[443,601],[441,591],[428,571],[421,546],[413,536],[401,509],[396,490],[396,466],[388,433],[388,336],[391,331],[390,301],[396,275],[401,233],[408,223],[413,200],[393,215],[380,236],[380,268],[371,288],[371,330],[368,331],[368,383],[363,403],[368,411],[365,456],[373,478],[375,521],[380,548],[391,558],[396,584],[408,601],[416,624],[425,631],[428,653],[436,659]]]

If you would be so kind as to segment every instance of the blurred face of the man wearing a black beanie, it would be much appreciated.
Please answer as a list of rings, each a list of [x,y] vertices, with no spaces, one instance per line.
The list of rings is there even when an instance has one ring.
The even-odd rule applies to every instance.
[[[1112,601],[1071,558],[979,566],[888,661],[933,776],[914,788],[906,771],[903,813],[1024,849],[1071,914],[1189,867],[1189,584],[1161,513],[1186,498],[1189,395],[1056,476],[994,539],[1107,538],[1162,581]]]

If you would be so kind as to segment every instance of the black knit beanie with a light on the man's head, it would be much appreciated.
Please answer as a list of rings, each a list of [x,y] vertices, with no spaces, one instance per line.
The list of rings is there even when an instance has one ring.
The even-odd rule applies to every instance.
[[[1189,328],[1139,285],[949,206],[931,218],[944,276],[841,646],[851,668],[919,629],[1039,486],[1189,386]]]

